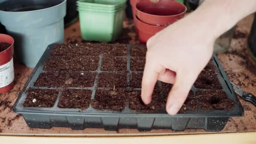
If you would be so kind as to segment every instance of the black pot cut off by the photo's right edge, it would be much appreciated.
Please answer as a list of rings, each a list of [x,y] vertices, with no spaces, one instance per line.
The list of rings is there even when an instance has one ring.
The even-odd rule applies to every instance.
[[[256,13],[254,14],[254,21],[252,25],[252,29],[248,38],[248,44],[251,52],[253,53],[254,57],[256,57]],[[256,58],[254,58],[256,59]]]

